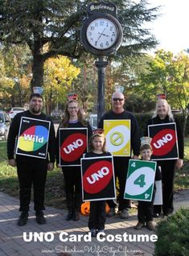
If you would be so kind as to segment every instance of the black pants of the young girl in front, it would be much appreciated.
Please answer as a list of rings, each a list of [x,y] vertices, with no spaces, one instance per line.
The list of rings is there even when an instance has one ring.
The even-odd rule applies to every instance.
[[[88,229],[105,229],[105,200],[90,202]]]

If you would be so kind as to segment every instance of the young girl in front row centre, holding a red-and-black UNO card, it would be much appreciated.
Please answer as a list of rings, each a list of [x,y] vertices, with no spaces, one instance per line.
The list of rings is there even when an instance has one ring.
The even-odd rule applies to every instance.
[[[103,130],[97,130],[97,134],[93,134],[89,142],[89,152],[85,157],[102,157],[111,155],[105,150],[105,134],[100,134]],[[90,202],[90,214],[88,219],[88,228],[92,233],[92,237],[96,237],[97,233],[104,232],[105,229],[105,200],[97,200]]]

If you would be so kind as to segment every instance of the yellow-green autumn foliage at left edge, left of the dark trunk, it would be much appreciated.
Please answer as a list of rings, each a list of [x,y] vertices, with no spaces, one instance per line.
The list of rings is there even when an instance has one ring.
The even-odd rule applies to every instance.
[[[0,50],[0,97],[3,107],[23,106],[27,102],[31,81],[31,58],[26,45],[2,47]]]

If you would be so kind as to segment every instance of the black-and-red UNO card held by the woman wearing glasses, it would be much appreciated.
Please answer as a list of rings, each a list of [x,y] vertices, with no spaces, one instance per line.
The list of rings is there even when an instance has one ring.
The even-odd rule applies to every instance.
[[[87,151],[87,128],[60,128],[60,166],[80,166],[80,157]]]

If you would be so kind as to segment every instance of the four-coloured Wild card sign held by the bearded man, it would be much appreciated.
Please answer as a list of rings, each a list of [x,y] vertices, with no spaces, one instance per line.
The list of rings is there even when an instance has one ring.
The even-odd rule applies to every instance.
[[[16,154],[46,159],[50,125],[49,121],[22,117]]]

